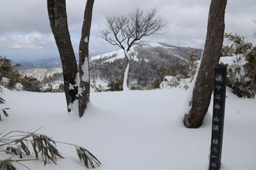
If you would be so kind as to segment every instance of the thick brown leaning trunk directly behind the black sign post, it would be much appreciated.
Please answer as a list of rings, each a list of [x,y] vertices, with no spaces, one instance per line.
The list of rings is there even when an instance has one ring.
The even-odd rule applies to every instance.
[[[207,37],[201,66],[193,90],[192,106],[189,114],[184,117],[184,125],[189,128],[200,127],[209,108],[213,89],[214,66],[220,60],[223,43],[226,4],[227,0],[211,1]]]

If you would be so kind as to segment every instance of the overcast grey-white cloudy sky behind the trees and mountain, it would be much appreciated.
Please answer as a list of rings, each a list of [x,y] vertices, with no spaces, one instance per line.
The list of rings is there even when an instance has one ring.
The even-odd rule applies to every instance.
[[[93,6],[90,52],[99,54],[116,50],[100,38],[106,15],[127,15],[134,8],[149,10],[157,7],[166,32],[148,37],[148,42],[164,42],[176,46],[204,48],[207,18],[211,0],[95,0]],[[85,0],[67,0],[68,27],[77,53]],[[225,32],[237,32],[255,45],[255,0],[228,0]],[[46,0],[0,1],[0,55],[10,59],[38,60],[59,57],[47,16]]]

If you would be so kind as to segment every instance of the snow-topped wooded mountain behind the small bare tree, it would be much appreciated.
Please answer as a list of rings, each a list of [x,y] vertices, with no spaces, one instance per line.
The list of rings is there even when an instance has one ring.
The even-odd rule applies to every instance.
[[[168,45],[166,43],[149,43],[131,48],[132,59],[129,69],[129,86],[140,86],[152,89],[152,83],[161,74],[179,70],[188,74],[188,57],[191,54],[202,55],[202,49]],[[124,76],[125,59],[122,50],[104,53],[90,60],[92,78],[113,80]]]

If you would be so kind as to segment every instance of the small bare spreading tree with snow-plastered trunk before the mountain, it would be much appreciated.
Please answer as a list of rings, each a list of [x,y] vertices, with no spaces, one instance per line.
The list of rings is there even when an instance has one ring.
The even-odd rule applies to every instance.
[[[157,17],[156,8],[144,12],[136,8],[128,16],[107,16],[107,28],[100,31],[102,38],[111,45],[116,45],[124,50],[125,58],[128,61],[124,73],[123,89],[129,90],[127,87],[127,78],[131,59],[131,47],[134,45],[142,45],[142,39],[145,36],[159,34],[163,29],[163,18]]]

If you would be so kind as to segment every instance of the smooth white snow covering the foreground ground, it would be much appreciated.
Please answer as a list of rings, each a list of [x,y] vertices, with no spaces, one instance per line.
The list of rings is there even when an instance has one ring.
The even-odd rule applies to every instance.
[[[188,90],[91,93],[86,114],[67,113],[64,94],[4,89],[9,117],[0,130],[35,131],[56,141],[84,146],[101,162],[99,170],[207,170],[211,143],[212,103],[204,124],[187,129],[182,123]],[[0,108],[0,109],[1,109]],[[227,88],[221,170],[256,168],[256,100],[241,99]],[[85,169],[74,146],[57,145],[65,159],[31,169]],[[0,153],[0,159],[10,157]],[[30,158],[34,158],[31,156]],[[17,169],[26,169],[14,164]]]

